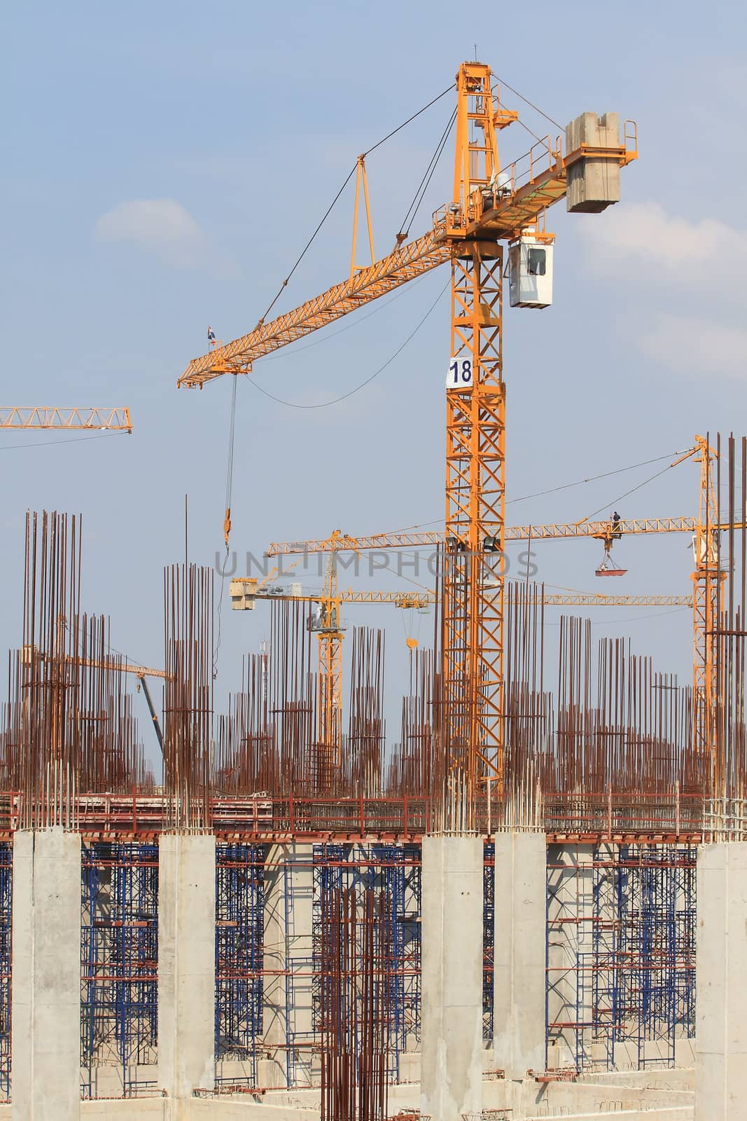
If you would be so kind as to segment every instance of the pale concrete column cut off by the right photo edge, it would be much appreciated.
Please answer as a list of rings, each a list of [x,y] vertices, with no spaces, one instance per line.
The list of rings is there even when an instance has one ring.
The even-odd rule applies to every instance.
[[[701,846],[695,874],[695,1121],[744,1121],[747,842]]]

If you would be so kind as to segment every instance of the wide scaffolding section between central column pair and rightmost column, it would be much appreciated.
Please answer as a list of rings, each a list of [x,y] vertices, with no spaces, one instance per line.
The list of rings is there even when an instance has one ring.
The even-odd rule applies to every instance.
[[[694,1037],[695,849],[570,852],[549,862],[548,1054],[561,1045],[577,1071],[672,1067]]]

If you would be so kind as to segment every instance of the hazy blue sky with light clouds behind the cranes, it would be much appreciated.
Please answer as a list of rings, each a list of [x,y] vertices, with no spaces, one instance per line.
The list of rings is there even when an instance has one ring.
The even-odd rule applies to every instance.
[[[251,330],[357,154],[445,90],[475,48],[561,123],[588,109],[635,119],[641,150],[617,207],[550,215],[552,308],[506,309],[510,501],[667,455],[695,432],[741,434],[746,21],[744,4],[729,2],[707,19],[689,2],[624,12],[540,2],[531,19],[515,6],[440,0],[17,6],[2,67],[2,404],[125,404],[134,433],[2,436],[6,645],[20,638],[26,509],[82,511],[87,610],[111,614],[118,648],[162,663],[161,569],[181,556],[185,493],[193,558],[209,564],[221,546],[231,389],[177,391],[177,377],[204,351],[208,323],[224,340]],[[393,243],[448,101],[371,157],[377,254]],[[513,95],[505,102],[538,135],[550,128]],[[504,161],[526,150],[517,126],[503,138]],[[445,158],[413,234],[449,183]],[[348,189],[281,308],[346,275],[351,226]],[[255,380],[295,405],[347,392],[391,358],[447,279],[437,270],[351,330],[258,363]],[[445,293],[399,358],[338,405],[293,408],[240,385],[237,550],[442,516],[448,328]],[[508,519],[577,520],[656,470],[514,501]],[[617,504],[629,517],[691,513],[697,481],[685,464]],[[539,575],[594,590],[598,559],[591,543],[545,545]],[[622,560],[620,592],[689,591],[681,537],[624,543]],[[400,586],[386,574],[375,584]],[[405,655],[404,620],[392,615],[347,612],[348,626],[387,627],[394,735]],[[661,668],[688,676],[687,611],[595,619],[599,633],[631,634]],[[268,624],[261,609],[225,613],[220,697]],[[424,640],[430,622],[417,626]]]

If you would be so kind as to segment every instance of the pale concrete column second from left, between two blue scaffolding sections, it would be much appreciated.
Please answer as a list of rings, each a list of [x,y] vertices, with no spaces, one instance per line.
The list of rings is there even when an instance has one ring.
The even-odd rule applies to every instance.
[[[172,1118],[215,1083],[214,836],[158,843],[158,1082]]]

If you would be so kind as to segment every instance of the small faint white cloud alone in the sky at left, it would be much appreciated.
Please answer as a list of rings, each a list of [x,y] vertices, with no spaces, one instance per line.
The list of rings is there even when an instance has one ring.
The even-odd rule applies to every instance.
[[[171,265],[195,263],[204,241],[192,214],[174,198],[133,198],[96,222],[101,241],[129,241]]]

